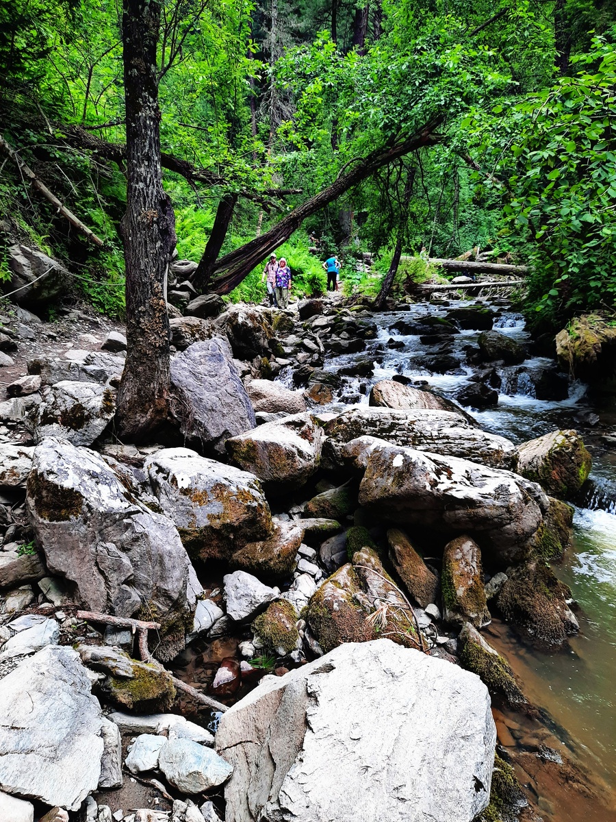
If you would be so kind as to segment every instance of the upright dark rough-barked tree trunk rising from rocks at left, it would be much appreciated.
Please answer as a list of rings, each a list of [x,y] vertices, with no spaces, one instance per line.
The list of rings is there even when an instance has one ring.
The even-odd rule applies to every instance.
[[[117,395],[117,429],[139,441],[168,418],[167,273],[175,216],[163,191],[156,66],[159,0],[124,0],[122,44],[126,98],[126,366]]]

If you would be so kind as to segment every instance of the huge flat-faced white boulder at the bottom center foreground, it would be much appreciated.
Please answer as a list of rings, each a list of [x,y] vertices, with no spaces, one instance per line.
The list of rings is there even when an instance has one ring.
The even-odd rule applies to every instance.
[[[223,714],[225,818],[471,822],[495,742],[479,677],[391,640],[341,645]]]

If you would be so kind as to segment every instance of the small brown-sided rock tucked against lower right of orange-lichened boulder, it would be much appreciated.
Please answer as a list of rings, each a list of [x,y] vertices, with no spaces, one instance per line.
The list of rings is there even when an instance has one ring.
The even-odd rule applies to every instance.
[[[246,570],[264,580],[284,580],[295,568],[297,549],[304,538],[300,521],[278,522],[271,537],[246,543],[231,557],[234,568]]]

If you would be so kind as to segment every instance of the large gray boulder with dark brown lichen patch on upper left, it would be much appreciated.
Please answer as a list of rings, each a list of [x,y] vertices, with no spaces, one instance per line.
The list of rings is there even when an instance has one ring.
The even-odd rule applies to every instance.
[[[192,614],[191,563],[171,520],[132,496],[94,451],[49,437],[34,451],[28,479],[30,524],[48,570],[65,577],[91,611],[154,615],[161,658],[183,647]]]

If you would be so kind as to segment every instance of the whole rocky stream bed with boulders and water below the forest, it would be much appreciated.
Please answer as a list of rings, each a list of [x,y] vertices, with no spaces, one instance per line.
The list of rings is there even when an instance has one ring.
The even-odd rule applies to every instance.
[[[190,297],[139,447],[120,326],[0,317],[0,822],[616,820],[613,404],[503,300]]]

